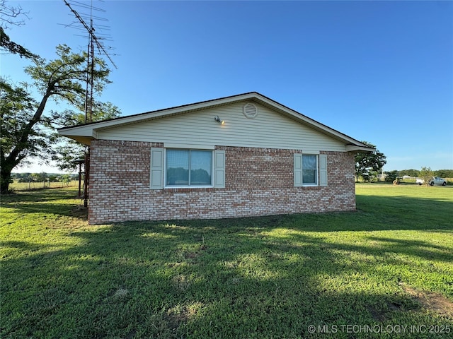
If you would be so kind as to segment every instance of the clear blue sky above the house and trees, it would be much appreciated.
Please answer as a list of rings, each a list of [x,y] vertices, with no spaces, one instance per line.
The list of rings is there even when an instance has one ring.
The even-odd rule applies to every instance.
[[[385,171],[453,169],[453,1],[69,1],[91,2],[116,54],[101,100],[122,116],[258,92],[376,145]],[[7,4],[29,12],[7,33],[31,52],[86,50],[64,1]],[[0,57],[30,81],[29,61]]]

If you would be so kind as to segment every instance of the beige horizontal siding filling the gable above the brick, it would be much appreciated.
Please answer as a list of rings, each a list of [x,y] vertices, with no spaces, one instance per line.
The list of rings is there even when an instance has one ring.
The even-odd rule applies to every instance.
[[[345,151],[344,143],[261,105],[254,104],[258,107],[258,116],[248,119],[243,114],[243,105],[246,103],[100,130],[97,138],[304,151]],[[216,116],[224,120],[225,124],[214,121]]]

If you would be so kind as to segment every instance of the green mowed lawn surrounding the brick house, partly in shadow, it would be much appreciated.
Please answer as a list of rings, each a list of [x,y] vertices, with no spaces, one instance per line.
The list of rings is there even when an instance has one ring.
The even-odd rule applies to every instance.
[[[358,184],[355,213],[96,226],[74,196],[2,196],[1,338],[452,338],[451,187]]]

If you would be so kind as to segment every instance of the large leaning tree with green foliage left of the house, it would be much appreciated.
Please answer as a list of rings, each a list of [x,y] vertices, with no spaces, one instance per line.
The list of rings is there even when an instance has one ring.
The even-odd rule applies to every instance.
[[[33,100],[25,85],[13,88],[1,81],[1,133],[0,148],[0,191],[8,191],[11,171],[30,155],[45,157],[40,152],[55,143],[55,135],[43,133],[39,126],[51,126],[53,121],[46,117],[45,107],[51,98],[63,100],[70,105],[80,106],[85,100],[84,82],[86,81],[86,52],[74,54],[67,45],[57,46],[58,58],[52,61],[33,59],[34,66],[25,68],[25,72],[33,78],[34,86],[41,95],[40,101]],[[95,58],[93,67],[93,90],[101,93],[108,81],[110,70],[102,59]],[[14,97],[18,100],[14,100]],[[16,103],[20,105],[16,107]],[[20,107],[24,107],[21,111]],[[23,119],[18,120],[23,112]],[[17,123],[15,122],[17,121]],[[4,142],[4,133],[9,138]]]

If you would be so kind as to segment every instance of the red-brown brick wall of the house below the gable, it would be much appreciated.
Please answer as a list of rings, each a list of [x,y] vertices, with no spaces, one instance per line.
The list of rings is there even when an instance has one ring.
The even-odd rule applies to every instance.
[[[149,189],[151,147],[159,143],[93,141],[88,221],[235,218],[355,210],[354,157],[326,152],[328,186],[294,187],[297,150],[225,150],[225,189]],[[323,152],[321,152],[323,153]]]

